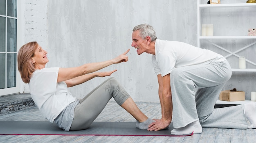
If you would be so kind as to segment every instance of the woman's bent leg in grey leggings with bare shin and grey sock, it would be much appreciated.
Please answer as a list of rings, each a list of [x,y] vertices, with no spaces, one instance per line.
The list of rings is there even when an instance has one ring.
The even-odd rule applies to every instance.
[[[74,109],[74,120],[70,130],[88,128],[112,97],[117,104],[128,111],[135,119],[143,122],[138,128],[147,129],[147,126],[153,122],[153,120],[149,119],[139,110],[135,102],[130,98],[130,95],[117,80],[115,78],[109,78],[80,100],[80,104]]]

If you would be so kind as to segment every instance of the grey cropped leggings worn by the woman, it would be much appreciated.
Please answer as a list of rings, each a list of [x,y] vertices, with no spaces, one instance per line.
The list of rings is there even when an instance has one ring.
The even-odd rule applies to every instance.
[[[130,95],[115,78],[108,78],[80,100],[80,104],[74,109],[74,119],[70,130],[88,128],[112,97],[117,104],[122,105],[130,98]]]

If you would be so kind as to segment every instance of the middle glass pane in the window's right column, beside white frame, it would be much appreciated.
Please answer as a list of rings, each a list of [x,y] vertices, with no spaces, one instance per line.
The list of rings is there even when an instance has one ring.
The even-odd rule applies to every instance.
[[[7,52],[16,52],[17,20],[7,18]]]

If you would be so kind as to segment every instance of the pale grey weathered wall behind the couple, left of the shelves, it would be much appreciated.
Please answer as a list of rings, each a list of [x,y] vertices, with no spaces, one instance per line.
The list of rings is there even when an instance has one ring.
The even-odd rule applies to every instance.
[[[159,99],[151,55],[139,56],[131,47],[134,26],[148,23],[155,28],[158,39],[197,45],[195,1],[24,1],[25,43],[36,40],[48,51],[47,67],[73,67],[104,61],[130,48],[128,62],[111,65],[102,71],[117,69],[112,76],[119,80],[135,101],[159,102]],[[82,98],[106,79],[94,78],[72,87],[70,91],[77,98]],[[227,87],[231,88],[231,84],[228,83]],[[29,92],[27,85],[25,92]]]

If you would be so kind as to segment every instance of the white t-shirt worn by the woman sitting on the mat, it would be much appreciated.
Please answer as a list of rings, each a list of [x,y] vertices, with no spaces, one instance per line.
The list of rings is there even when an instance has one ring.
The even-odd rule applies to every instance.
[[[67,105],[76,100],[67,91],[65,82],[57,83],[58,69],[59,67],[38,69],[32,74],[29,82],[32,99],[51,123]]]

